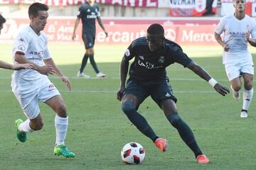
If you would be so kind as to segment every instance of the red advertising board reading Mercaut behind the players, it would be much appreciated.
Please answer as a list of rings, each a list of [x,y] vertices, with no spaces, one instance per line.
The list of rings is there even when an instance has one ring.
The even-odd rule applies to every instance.
[[[13,42],[19,30],[28,26],[28,23],[28,19],[7,19],[1,30],[0,42]],[[48,19],[44,32],[48,35],[49,42],[82,43],[81,25],[76,32],[77,40],[72,40],[74,23],[75,19]],[[106,38],[105,33],[97,25],[95,43],[97,45],[129,45],[135,38],[145,36],[148,27],[149,24],[106,24],[105,28],[109,33]],[[214,38],[215,25],[164,25],[164,28],[165,37],[181,45],[217,45]]]

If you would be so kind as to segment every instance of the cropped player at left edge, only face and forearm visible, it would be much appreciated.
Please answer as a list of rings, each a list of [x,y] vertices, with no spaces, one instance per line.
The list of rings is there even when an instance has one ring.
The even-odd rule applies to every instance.
[[[4,28],[5,22],[6,22],[6,19],[3,16],[1,16],[1,14],[0,14],[0,34],[1,34],[1,29]],[[6,63],[6,62],[3,62],[0,60],[0,68],[13,69],[13,70],[31,69],[32,65],[31,64],[9,64],[9,63]]]

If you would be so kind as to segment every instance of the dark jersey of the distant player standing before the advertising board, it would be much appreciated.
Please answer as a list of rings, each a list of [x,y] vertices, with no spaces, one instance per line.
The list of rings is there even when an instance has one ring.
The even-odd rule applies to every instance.
[[[99,6],[97,4],[90,6],[88,2],[85,2],[80,6],[77,16],[82,19],[82,33],[95,35],[95,19],[100,16]]]

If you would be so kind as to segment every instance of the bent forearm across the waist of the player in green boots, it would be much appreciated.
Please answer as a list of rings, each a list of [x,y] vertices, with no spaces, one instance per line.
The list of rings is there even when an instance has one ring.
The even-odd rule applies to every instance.
[[[45,65],[45,66],[38,66],[37,64],[31,62],[28,60],[25,55],[19,54],[21,52],[18,52],[14,55],[14,61],[18,62],[18,64],[28,64],[32,67],[32,69],[35,69],[37,72],[45,75],[54,74],[55,71],[53,70],[53,67],[51,65]]]

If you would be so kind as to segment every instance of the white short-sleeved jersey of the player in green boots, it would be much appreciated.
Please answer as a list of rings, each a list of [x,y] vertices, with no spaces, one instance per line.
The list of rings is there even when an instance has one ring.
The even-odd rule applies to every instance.
[[[28,60],[38,66],[43,66],[43,60],[50,58],[47,35],[43,31],[37,35],[30,26],[26,27],[18,33],[12,53],[13,60],[17,53],[25,55]],[[17,63],[14,61],[14,64]],[[34,69],[21,69],[12,74],[11,87],[18,94],[29,94],[39,89],[45,79],[48,79],[46,75],[40,74]]]

